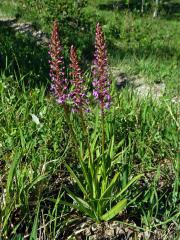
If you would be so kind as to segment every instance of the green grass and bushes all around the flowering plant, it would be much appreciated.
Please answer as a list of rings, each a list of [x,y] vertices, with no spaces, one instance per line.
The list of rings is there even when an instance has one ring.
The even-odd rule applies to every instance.
[[[123,164],[128,166],[129,176],[137,172],[151,176],[135,210],[127,210],[129,219],[136,215],[137,225],[144,231],[160,228],[166,236],[172,221],[178,224],[179,212],[179,106],[171,99],[180,90],[180,2],[163,1],[155,19],[149,1],[144,13],[137,3],[2,0],[0,16],[31,22],[49,36],[57,18],[66,65],[69,47],[74,44],[87,77],[95,25],[100,22],[111,67],[148,83],[166,84],[160,102],[139,100],[127,89],[115,91],[115,106],[109,113],[116,116],[115,141],[118,144],[124,139],[121,150],[126,149]],[[62,162],[73,162],[74,150],[62,111],[49,93],[48,49],[1,24],[0,53],[0,198],[4,199],[5,189],[9,191],[6,201],[0,203],[0,228],[4,228],[0,236],[23,239],[21,236],[29,234],[37,239],[37,229],[45,221],[46,236],[55,239],[64,231],[69,209],[47,198],[60,199]],[[32,121],[31,114],[40,124]],[[173,234],[176,239],[177,233]]]

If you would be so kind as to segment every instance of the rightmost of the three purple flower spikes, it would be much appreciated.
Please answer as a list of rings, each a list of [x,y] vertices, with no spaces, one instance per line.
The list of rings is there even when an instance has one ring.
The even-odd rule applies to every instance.
[[[100,24],[96,26],[95,54],[93,61],[93,95],[100,103],[101,110],[109,108],[111,103],[108,74],[107,50],[104,35]]]

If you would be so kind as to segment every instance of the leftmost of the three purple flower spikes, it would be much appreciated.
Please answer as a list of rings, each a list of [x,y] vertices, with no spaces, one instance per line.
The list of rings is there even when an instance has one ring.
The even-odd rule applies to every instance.
[[[67,99],[67,79],[64,73],[64,59],[62,56],[62,47],[58,35],[58,22],[54,21],[53,31],[51,35],[51,41],[49,45],[51,56],[50,63],[50,77],[51,77],[51,89],[57,99],[57,102],[64,104]]]

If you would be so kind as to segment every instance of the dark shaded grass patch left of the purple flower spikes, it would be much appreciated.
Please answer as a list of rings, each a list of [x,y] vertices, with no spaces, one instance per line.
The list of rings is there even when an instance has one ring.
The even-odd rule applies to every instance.
[[[0,21],[0,70],[24,77],[27,87],[35,87],[48,82],[48,47],[37,44],[28,34],[11,28],[15,20]]]

